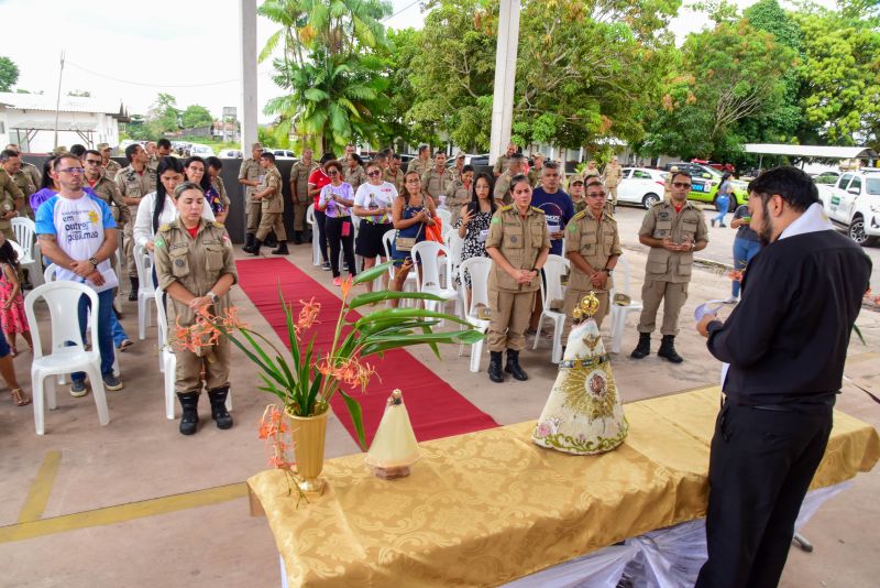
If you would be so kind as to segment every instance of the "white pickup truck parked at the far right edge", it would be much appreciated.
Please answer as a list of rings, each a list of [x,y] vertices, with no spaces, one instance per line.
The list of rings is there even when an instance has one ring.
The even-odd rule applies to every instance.
[[[860,246],[880,238],[880,168],[843,174],[834,185],[820,185],[822,206],[832,222]]]

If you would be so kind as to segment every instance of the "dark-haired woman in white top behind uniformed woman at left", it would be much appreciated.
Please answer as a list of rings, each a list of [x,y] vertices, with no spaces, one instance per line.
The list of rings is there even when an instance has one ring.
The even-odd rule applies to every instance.
[[[158,176],[156,192],[151,192],[141,199],[133,231],[134,244],[142,244],[150,251],[154,250],[153,238],[158,228],[177,218],[177,207],[174,205],[172,194],[174,188],[186,181],[184,164],[172,155],[160,160],[156,175]],[[208,206],[202,208],[201,216],[206,220],[215,220],[213,213]]]

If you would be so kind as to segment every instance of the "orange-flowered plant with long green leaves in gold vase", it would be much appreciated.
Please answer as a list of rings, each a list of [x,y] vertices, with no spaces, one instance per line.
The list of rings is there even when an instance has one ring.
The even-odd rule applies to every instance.
[[[292,415],[323,414],[330,409],[333,395],[340,394],[358,433],[358,442],[366,449],[361,405],[350,393],[356,388],[365,390],[375,375],[374,367],[365,358],[422,344],[428,345],[439,358],[439,344],[470,345],[484,337],[483,333],[475,330],[466,320],[424,308],[382,308],[363,316],[352,316],[352,311],[389,300],[443,300],[421,292],[378,291],[351,295],[353,286],[383,275],[391,264],[392,262],[376,265],[342,282],[342,305],[333,342],[327,350],[316,348],[315,335],[308,341],[304,340],[305,334],[320,316],[320,303],[315,302],[315,298],[299,301],[300,308],[295,318],[294,305],[284,300],[280,286],[278,297],[287,323],[289,352],[279,350],[261,333],[244,325],[234,307],[227,309],[221,316],[201,311],[194,325],[178,326],[177,339],[185,347],[197,347],[213,342],[220,335],[226,335],[260,368],[260,378],[264,384],[260,390],[276,395]],[[435,331],[433,327],[442,320],[462,328]]]

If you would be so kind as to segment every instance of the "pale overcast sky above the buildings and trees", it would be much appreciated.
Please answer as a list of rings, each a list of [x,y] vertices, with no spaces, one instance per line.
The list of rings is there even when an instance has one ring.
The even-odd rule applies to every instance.
[[[736,0],[741,7],[755,1]],[[421,28],[418,0],[392,3],[388,26]],[[0,0],[0,55],[18,64],[18,87],[54,95],[64,50],[64,94],[88,90],[122,101],[131,113],[145,113],[160,91],[175,96],[182,108],[201,105],[216,117],[224,106],[240,107],[238,0]],[[706,23],[682,11],[672,30],[683,37]],[[276,30],[257,18],[257,51]],[[257,66],[257,104],[282,94],[271,72],[268,62]],[[260,121],[270,120],[261,111]]]

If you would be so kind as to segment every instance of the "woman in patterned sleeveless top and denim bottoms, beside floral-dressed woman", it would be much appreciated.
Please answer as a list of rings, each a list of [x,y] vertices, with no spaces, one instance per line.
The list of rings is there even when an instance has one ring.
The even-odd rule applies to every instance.
[[[425,227],[435,225],[433,217],[437,216],[437,208],[433,198],[421,189],[421,176],[418,172],[407,172],[404,174],[404,189],[392,206],[392,222],[397,229],[392,241],[392,258],[394,266],[397,269],[391,290],[400,292],[404,288],[406,276],[413,269],[411,251],[415,243],[425,240]],[[421,271],[419,268],[418,271]],[[399,301],[389,301],[393,308],[397,307]]]

